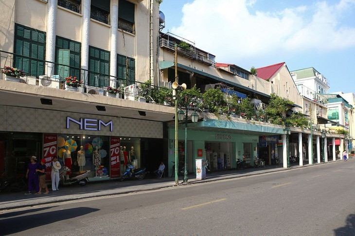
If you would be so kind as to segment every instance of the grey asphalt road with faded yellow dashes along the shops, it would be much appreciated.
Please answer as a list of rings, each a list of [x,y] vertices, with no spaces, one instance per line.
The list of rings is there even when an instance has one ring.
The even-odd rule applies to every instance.
[[[355,160],[0,215],[0,235],[355,235]]]

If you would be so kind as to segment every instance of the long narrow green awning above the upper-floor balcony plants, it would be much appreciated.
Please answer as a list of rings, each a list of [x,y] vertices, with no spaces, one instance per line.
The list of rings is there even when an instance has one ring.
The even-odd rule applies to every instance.
[[[160,61],[159,62],[159,66],[160,66],[160,69],[170,68],[170,67],[174,66],[174,62],[171,62],[171,61]],[[243,86],[241,84],[237,84],[237,83],[222,79],[220,77],[208,74],[208,73],[206,73],[204,71],[201,71],[201,70],[198,70],[198,69],[195,69],[195,68],[191,68],[191,67],[188,67],[188,66],[184,66],[184,65],[181,65],[181,64],[178,64],[178,63],[177,63],[177,67],[178,68],[182,68],[182,69],[186,69],[186,70],[194,72],[196,74],[200,74],[200,75],[206,76],[208,78],[211,78],[213,80],[216,80],[216,81],[219,81],[219,82],[222,82],[222,83],[225,83],[225,84],[230,84],[231,86],[234,86],[234,87],[245,89],[245,90],[247,90],[249,92],[259,94],[259,95],[264,96],[266,98],[270,98],[270,95],[267,95],[265,93],[256,91],[256,90],[251,89],[251,88],[248,88],[248,87]]]

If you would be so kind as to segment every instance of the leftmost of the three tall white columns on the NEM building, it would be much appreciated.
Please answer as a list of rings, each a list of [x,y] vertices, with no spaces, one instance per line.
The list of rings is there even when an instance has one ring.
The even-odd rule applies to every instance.
[[[46,61],[55,62],[55,19],[57,15],[57,0],[48,0],[47,3],[47,28],[46,28]],[[46,75],[54,74],[54,64],[46,65]]]

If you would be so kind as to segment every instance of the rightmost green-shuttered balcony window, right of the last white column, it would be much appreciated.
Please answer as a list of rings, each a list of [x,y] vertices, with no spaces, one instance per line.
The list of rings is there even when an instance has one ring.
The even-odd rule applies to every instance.
[[[129,80],[129,84],[133,84],[136,81],[135,69],[136,64],[134,58],[125,57],[124,55],[117,54],[117,77],[119,79],[127,79]]]

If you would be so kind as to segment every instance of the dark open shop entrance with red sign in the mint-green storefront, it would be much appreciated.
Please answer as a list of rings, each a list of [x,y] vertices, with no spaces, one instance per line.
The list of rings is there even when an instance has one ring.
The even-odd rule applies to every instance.
[[[205,150],[212,170],[231,169],[231,142],[205,142]]]

